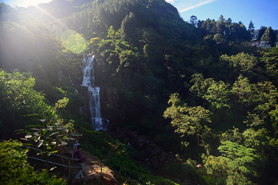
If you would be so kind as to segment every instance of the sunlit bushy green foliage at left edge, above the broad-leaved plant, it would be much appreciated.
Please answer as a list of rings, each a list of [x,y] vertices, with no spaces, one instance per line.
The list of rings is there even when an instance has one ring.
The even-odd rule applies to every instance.
[[[47,110],[44,98],[33,90],[34,84],[35,79],[28,73],[0,71],[0,126],[3,138],[31,121],[23,115]]]

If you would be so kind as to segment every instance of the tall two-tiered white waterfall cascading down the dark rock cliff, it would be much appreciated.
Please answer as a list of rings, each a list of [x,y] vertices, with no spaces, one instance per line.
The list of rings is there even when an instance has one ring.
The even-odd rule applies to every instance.
[[[88,94],[90,97],[89,108],[91,113],[91,125],[95,128],[95,130],[106,130],[106,125],[109,123],[109,121],[103,119],[101,116],[100,87],[93,87],[95,85],[93,62],[94,56],[88,57],[87,61],[85,55],[83,56],[84,67],[82,86],[88,87]]]

